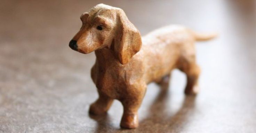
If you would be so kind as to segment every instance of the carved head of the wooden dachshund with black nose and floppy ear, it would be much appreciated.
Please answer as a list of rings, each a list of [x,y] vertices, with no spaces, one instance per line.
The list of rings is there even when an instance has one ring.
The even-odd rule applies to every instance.
[[[110,48],[121,64],[127,64],[142,46],[141,35],[120,8],[98,4],[80,17],[82,27],[70,41],[83,54]]]

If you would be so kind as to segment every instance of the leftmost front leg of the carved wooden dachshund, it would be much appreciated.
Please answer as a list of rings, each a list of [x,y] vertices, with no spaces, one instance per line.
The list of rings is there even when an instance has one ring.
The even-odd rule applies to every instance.
[[[90,105],[90,114],[103,114],[109,110],[110,106],[113,103],[113,99],[109,96],[106,96],[101,92],[98,92],[98,94],[99,98],[93,104]]]

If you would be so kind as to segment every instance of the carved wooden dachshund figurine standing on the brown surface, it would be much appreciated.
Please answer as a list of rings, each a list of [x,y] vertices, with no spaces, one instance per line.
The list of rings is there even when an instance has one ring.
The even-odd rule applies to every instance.
[[[198,92],[200,68],[195,61],[195,41],[201,35],[182,27],[157,29],[143,38],[120,8],[98,4],[81,15],[82,27],[69,46],[83,54],[95,51],[91,78],[99,98],[90,106],[91,114],[109,110],[113,99],[123,105],[121,127],[138,127],[138,109],[150,82],[161,83],[174,68],[187,76],[185,94]]]

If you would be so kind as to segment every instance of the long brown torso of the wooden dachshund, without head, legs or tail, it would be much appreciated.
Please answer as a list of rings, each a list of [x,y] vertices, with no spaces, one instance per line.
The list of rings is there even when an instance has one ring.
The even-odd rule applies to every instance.
[[[125,65],[120,64],[111,49],[96,50],[91,77],[101,92],[121,99],[124,94],[133,92],[127,86],[144,89],[150,82],[160,82],[172,69],[182,68],[189,61],[194,61],[195,50],[191,43],[194,40],[182,26],[163,27],[144,36],[141,50]]]

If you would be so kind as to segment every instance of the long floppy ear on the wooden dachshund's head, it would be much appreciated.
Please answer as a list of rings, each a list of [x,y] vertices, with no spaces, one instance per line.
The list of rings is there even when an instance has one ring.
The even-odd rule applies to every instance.
[[[128,20],[122,10],[117,13],[119,22],[114,38],[114,52],[121,64],[129,63],[130,59],[141,49],[141,34]]]

